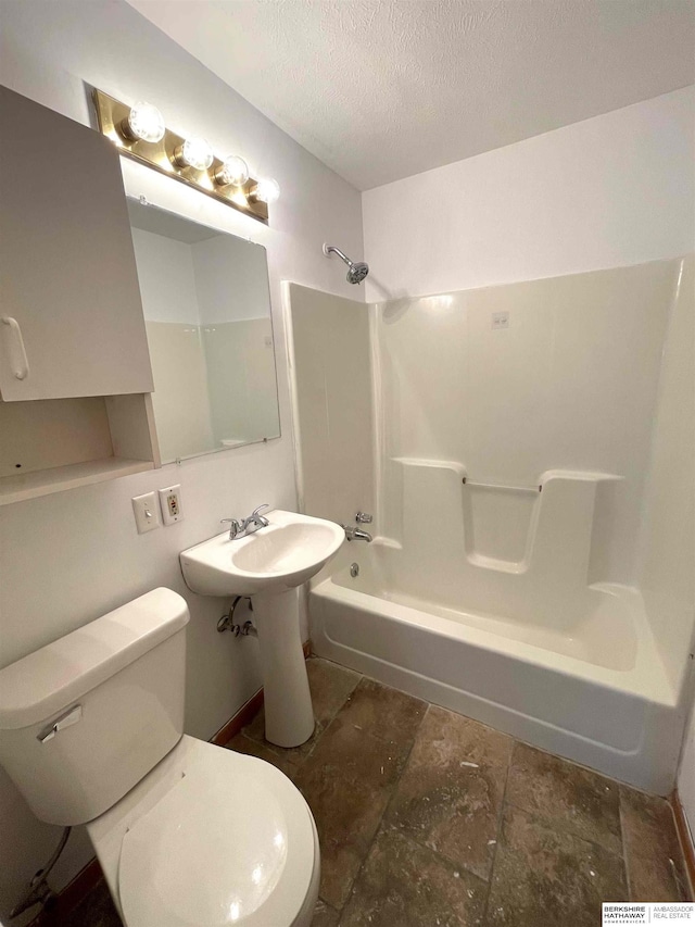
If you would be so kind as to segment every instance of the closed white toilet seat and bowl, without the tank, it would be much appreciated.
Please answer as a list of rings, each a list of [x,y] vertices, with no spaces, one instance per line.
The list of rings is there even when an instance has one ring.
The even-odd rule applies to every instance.
[[[88,825],[100,860],[100,843],[111,845],[112,863],[119,843],[117,872],[106,876],[127,927],[299,923],[317,882],[301,793],[268,763],[182,740],[172,751],[180,757],[169,754],[168,768],[123,799],[125,815],[116,806],[101,816],[113,815],[113,826]]]

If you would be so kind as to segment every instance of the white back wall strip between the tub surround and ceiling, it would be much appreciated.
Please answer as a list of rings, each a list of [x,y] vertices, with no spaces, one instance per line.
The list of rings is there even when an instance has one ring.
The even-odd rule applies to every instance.
[[[687,87],[368,190],[368,300],[693,251],[694,135]]]

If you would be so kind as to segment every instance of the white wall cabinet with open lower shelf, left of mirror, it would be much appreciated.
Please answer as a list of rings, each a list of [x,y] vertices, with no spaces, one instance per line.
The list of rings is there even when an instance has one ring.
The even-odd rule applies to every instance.
[[[159,463],[118,153],[0,87],[0,504]]]

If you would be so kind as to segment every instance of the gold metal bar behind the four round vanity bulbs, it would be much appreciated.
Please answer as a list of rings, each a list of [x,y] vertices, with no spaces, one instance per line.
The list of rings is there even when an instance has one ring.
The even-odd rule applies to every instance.
[[[99,130],[113,141],[121,154],[147,164],[148,167],[153,167],[161,174],[166,174],[167,177],[180,180],[181,184],[187,184],[201,193],[220,200],[264,225],[268,224],[267,203],[254,198],[257,180],[249,177],[241,187],[219,186],[215,175],[222,170],[223,162],[218,158],[215,158],[212,165],[203,171],[187,164],[181,166],[180,156],[177,158],[177,154],[182,150],[185,138],[169,129],[164,130],[160,141],[143,141],[135,136],[131,137],[131,134],[123,128],[124,125],[127,126],[130,107],[97,89],[93,91],[93,101]]]

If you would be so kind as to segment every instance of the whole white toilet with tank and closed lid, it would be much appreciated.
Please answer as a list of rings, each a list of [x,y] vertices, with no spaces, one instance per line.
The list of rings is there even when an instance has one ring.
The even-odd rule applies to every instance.
[[[41,820],[86,824],[126,927],[308,927],[303,797],[184,735],[188,621],[154,589],[0,671],[0,763]]]

